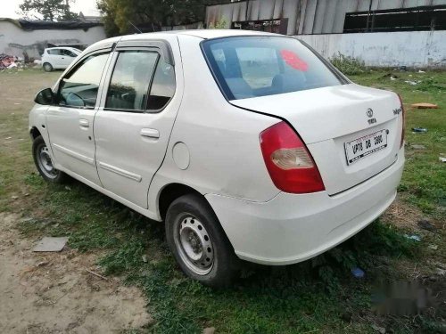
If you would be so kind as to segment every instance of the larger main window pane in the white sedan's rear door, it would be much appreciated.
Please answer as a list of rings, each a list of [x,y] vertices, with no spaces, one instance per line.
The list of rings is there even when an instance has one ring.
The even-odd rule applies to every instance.
[[[147,93],[159,53],[123,51],[111,75],[105,109],[144,112]]]

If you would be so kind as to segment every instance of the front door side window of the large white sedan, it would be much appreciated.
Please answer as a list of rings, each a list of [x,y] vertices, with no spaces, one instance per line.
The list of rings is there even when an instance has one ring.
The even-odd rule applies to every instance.
[[[59,88],[62,106],[95,108],[99,83],[109,53],[96,53],[80,62],[74,71],[63,77]]]

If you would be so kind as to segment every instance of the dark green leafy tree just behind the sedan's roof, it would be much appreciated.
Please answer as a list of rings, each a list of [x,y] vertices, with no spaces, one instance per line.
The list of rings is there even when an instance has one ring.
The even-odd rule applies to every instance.
[[[205,4],[221,0],[97,0],[107,35],[148,31],[163,26],[189,24],[204,19]]]

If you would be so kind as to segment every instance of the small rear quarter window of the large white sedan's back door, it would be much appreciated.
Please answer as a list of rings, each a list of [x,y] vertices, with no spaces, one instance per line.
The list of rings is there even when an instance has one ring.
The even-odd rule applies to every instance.
[[[173,94],[175,94],[175,87],[174,67],[160,58],[150,88],[147,112],[163,109],[169,103]]]

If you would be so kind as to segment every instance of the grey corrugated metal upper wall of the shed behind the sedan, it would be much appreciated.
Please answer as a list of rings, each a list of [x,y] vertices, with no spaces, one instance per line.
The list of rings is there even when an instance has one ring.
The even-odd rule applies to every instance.
[[[446,0],[250,0],[206,7],[207,27],[232,22],[288,18],[287,35],[343,32],[347,12],[445,5]]]

